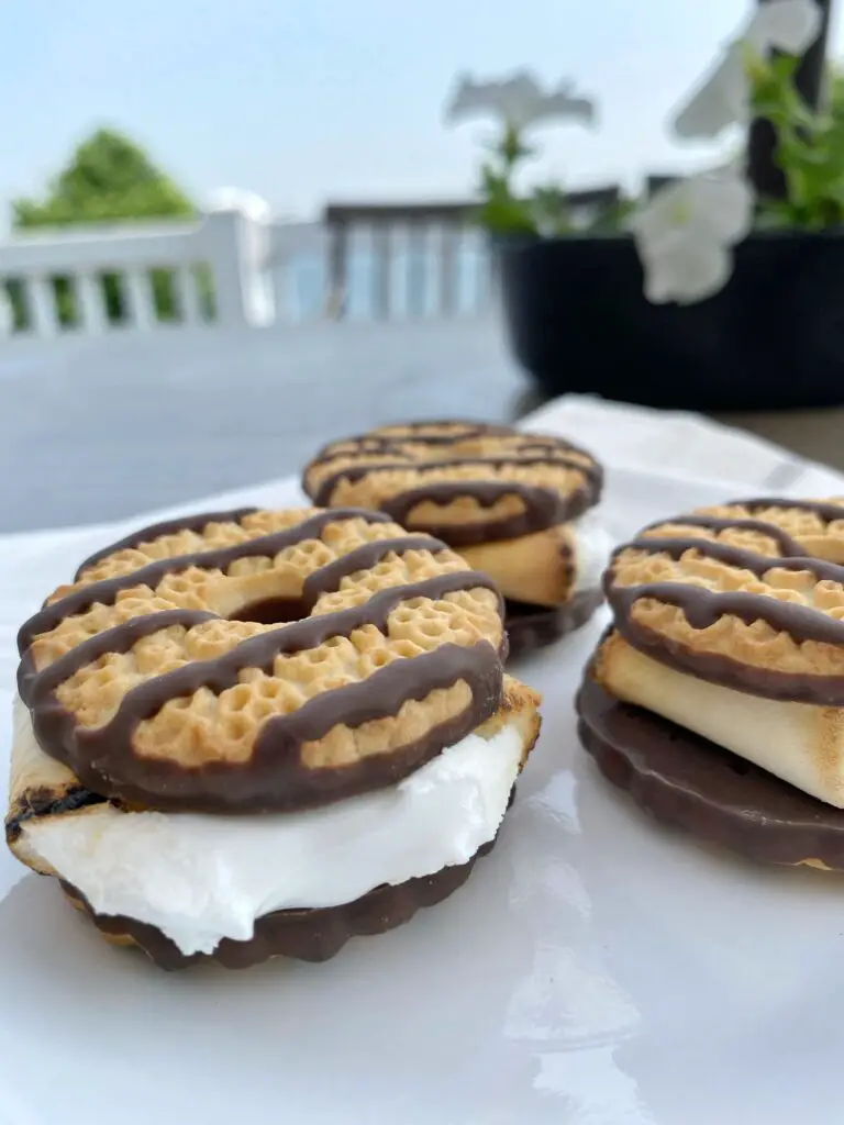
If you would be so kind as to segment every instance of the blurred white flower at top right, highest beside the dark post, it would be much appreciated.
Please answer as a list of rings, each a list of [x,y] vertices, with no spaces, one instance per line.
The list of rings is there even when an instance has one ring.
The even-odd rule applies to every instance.
[[[760,3],[724,57],[674,117],[677,136],[712,140],[729,125],[751,117],[748,55],[770,51],[802,55],[820,30],[816,0],[767,0]]]

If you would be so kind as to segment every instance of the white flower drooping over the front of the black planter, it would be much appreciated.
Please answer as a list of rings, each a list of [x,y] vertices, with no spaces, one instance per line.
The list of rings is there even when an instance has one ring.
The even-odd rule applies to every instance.
[[[629,228],[655,304],[711,297],[733,272],[733,246],[753,223],[753,191],[737,163],[656,192]]]

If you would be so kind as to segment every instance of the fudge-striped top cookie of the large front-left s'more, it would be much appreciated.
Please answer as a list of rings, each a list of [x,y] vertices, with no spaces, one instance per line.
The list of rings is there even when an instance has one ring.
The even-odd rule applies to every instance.
[[[495,712],[505,646],[486,576],[357,508],[144,529],[88,559],[18,642],[47,754],[104,796],[209,811],[406,776]]]

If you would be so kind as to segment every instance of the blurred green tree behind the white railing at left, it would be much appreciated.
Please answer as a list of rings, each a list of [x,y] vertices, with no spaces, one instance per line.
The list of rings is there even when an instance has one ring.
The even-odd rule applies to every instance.
[[[43,226],[72,226],[82,223],[115,223],[125,219],[189,217],[196,207],[182,189],[127,136],[114,129],[98,129],[77,146],[66,166],[54,177],[43,198],[15,199],[11,204],[15,230]],[[152,270],[152,286],[158,315],[176,320],[172,273]],[[200,277],[206,308],[208,279]],[[73,287],[69,278],[53,279],[59,316],[63,324],[79,321]],[[123,287],[116,274],[104,274],[107,314],[119,322],[126,315]],[[29,315],[23,286],[7,282],[19,327],[28,325]]]

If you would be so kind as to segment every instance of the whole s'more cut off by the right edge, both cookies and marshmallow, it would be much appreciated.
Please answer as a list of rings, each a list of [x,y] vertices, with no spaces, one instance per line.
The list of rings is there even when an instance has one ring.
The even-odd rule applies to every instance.
[[[605,576],[612,627],[578,701],[608,775],[697,835],[844,867],[836,559],[837,501],[736,501],[618,548]]]

